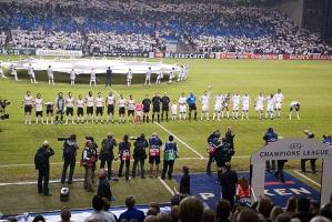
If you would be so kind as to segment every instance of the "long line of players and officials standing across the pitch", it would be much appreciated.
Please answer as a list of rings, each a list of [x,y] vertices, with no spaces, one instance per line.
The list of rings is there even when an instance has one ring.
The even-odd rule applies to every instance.
[[[210,100],[211,100],[211,88],[204,91],[203,95],[199,98],[201,104],[201,115],[200,119],[210,120]],[[249,109],[251,104],[251,99],[248,93],[244,95],[240,95],[238,92],[233,95],[230,93],[221,94],[218,93],[214,97],[215,103],[213,108],[213,117],[212,120],[220,121],[221,119],[239,119],[239,110],[240,103],[242,103],[242,120],[249,119]],[[269,97],[264,97],[260,93],[255,98],[254,109],[259,113],[259,119],[274,119],[281,117],[281,108],[282,102],[284,100],[284,95],[279,89],[275,94],[271,93]],[[265,115],[264,103],[266,102]],[[232,117],[230,117],[230,105],[232,103]],[[168,93],[164,92],[163,97],[160,97],[157,92],[152,99],[149,98],[149,94],[145,94],[145,98],[142,101],[135,101],[133,95],[130,94],[129,99],[124,99],[123,94],[120,94],[117,101],[117,97],[113,95],[112,92],[104,99],[101,92],[98,92],[98,95],[94,98],[92,91],[89,91],[88,95],[83,98],[79,94],[78,99],[73,98],[72,92],[68,93],[67,98],[63,98],[62,92],[58,93],[58,98],[56,102],[44,102],[41,98],[41,93],[37,94],[37,98],[33,99],[31,92],[28,91],[22,100],[22,108],[24,107],[24,123],[31,124],[31,113],[34,109],[36,111],[36,124],[39,123],[39,119],[41,124],[57,124],[63,123],[63,117],[66,115],[66,124],[69,123],[98,123],[99,121],[103,123],[104,110],[107,110],[107,123],[114,123],[114,110],[115,105],[118,105],[119,110],[119,123],[130,122],[130,119],[133,123],[142,123],[150,122],[150,107],[152,104],[152,115],[151,122],[154,121],[169,121],[169,112],[170,119],[172,121],[178,120],[178,111],[179,111],[179,120],[187,119],[187,111],[189,111],[189,120],[198,120],[197,114],[197,98],[193,92],[190,92],[188,97],[185,97],[184,92],[181,93],[179,100],[173,100],[168,97]],[[43,119],[43,110],[46,107],[46,122]],[[53,111],[56,107],[56,120],[53,120]],[[74,107],[77,108],[77,115],[74,117]],[[85,114],[84,114],[85,108]],[[295,109],[296,117],[299,117],[300,103],[298,101],[292,101],[290,108],[290,119],[292,117],[292,110]],[[225,111],[225,115],[224,115]],[[165,119],[164,119],[165,118]],[[50,120],[50,121],[49,121]]]

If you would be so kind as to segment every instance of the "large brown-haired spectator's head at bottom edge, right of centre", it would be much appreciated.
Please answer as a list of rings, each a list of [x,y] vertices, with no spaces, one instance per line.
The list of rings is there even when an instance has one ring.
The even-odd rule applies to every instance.
[[[201,222],[203,215],[203,203],[195,196],[184,198],[179,205],[179,218],[181,222]]]

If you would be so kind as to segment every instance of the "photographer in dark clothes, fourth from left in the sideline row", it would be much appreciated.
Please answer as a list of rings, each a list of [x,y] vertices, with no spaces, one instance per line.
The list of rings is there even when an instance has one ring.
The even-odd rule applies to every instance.
[[[112,179],[112,162],[114,160],[113,148],[118,143],[113,138],[113,134],[109,133],[108,138],[103,139],[101,142],[101,149],[99,154],[100,168],[104,168],[104,164],[108,164],[108,179]]]

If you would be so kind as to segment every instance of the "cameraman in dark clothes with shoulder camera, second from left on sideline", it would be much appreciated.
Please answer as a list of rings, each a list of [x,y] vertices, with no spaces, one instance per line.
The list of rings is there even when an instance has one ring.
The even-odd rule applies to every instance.
[[[63,138],[58,138],[58,140],[62,140]],[[61,176],[61,183],[64,184],[66,182],[66,175],[67,175],[67,169],[69,167],[69,176],[68,176],[68,184],[72,183],[72,175],[76,167],[77,161],[77,150],[79,149],[77,143],[77,135],[71,134],[70,138],[64,139],[63,142],[63,167],[62,167],[62,176]]]

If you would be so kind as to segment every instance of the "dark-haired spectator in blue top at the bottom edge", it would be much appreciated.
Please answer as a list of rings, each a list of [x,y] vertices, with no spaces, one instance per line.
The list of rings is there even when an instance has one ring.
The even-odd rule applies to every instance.
[[[123,220],[127,221],[135,220],[137,222],[144,221],[145,215],[142,211],[134,208],[135,200],[132,195],[125,199],[125,205],[127,205],[127,211],[120,214],[119,221],[123,221]]]

